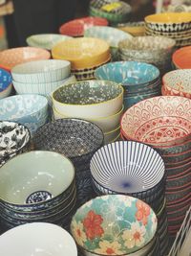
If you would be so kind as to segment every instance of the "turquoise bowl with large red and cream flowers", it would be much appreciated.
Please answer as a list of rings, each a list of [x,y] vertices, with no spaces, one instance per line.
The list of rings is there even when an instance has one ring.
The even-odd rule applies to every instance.
[[[73,217],[71,231],[86,255],[140,256],[148,255],[157,222],[154,211],[138,198],[111,195],[81,206]]]

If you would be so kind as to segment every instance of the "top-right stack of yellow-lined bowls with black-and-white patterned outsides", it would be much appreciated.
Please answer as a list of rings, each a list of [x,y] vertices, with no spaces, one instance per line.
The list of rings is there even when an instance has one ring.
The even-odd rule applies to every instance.
[[[176,46],[191,44],[191,13],[166,12],[145,17],[146,35],[160,35],[176,40]]]

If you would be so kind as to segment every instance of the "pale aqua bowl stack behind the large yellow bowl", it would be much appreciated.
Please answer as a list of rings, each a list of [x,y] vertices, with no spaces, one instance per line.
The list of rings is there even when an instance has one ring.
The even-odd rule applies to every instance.
[[[118,59],[118,42],[133,37],[133,35],[117,30],[115,28],[100,26],[88,28],[85,30],[84,36],[97,37],[107,41],[110,44],[113,61]]]

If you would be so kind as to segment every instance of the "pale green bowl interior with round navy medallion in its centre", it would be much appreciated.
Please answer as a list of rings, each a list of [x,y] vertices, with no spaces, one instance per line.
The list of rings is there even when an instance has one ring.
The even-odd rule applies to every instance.
[[[68,158],[51,151],[31,151],[1,168],[0,198],[20,205],[37,203],[58,196],[73,180],[74,166]]]

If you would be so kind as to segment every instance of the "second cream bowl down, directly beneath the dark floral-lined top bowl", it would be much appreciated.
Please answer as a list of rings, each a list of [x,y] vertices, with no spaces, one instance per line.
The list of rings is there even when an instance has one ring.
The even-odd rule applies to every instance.
[[[124,105],[122,106],[120,111],[117,112],[117,114],[114,114],[112,116],[103,117],[99,119],[90,118],[86,120],[96,124],[96,126],[101,128],[103,132],[109,132],[110,130],[114,130],[115,128],[118,127],[123,110],[124,110]],[[53,108],[53,116],[54,116],[54,120],[62,119],[62,118],[70,118],[68,116],[61,115],[59,112],[56,111],[55,108]]]

